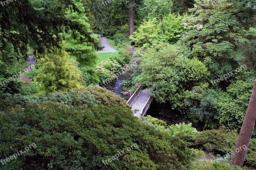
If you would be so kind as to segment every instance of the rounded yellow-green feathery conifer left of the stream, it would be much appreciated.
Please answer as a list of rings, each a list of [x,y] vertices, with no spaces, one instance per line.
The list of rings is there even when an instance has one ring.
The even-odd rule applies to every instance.
[[[41,83],[42,92],[82,87],[79,83],[81,71],[76,63],[69,62],[68,59],[68,53],[63,49],[54,49],[40,60],[36,81]]]

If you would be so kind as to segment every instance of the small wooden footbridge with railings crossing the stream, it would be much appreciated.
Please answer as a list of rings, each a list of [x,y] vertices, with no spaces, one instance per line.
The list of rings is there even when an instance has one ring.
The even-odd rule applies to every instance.
[[[154,99],[154,97],[151,96],[152,92],[153,90],[150,90],[149,88],[141,90],[141,86],[139,86],[132,94],[126,103],[132,106],[132,110],[135,111],[135,113],[133,113],[134,116],[140,117],[146,115],[148,108]]]

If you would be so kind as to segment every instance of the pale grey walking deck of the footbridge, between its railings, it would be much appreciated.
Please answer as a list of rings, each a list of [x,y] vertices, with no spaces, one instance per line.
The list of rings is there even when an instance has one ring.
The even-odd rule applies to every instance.
[[[139,97],[134,101],[134,103],[132,104],[132,110],[138,109],[139,111],[137,111],[134,116],[140,117],[140,112],[143,109],[144,105],[146,104],[148,98],[150,97],[152,93],[152,90],[150,89],[143,89],[141,90],[141,93],[139,95]]]

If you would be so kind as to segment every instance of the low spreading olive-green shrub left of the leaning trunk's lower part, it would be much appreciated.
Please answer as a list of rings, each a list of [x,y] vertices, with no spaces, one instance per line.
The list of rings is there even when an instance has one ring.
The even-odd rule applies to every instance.
[[[233,152],[238,133],[224,127],[205,130],[196,137],[195,144],[203,145],[208,151],[228,153]]]

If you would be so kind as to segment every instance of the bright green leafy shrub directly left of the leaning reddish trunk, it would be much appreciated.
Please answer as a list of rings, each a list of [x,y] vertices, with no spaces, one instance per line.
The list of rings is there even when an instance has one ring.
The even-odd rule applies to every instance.
[[[240,72],[227,87],[230,97],[223,97],[217,102],[220,125],[228,129],[240,130],[251,97],[254,82],[253,72]]]

